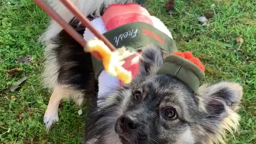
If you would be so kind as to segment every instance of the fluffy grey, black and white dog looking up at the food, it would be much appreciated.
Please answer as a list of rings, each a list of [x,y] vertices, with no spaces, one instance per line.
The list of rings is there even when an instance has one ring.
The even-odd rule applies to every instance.
[[[59,1],[49,2],[84,34],[86,28]],[[135,1],[72,2],[94,20],[110,4]],[[168,31],[166,27],[164,30]],[[239,126],[236,112],[242,86],[228,81],[202,84],[195,94],[175,76],[157,73],[165,59],[157,44],[143,46],[138,74],[130,84],[98,94],[99,81],[90,53],[85,53],[54,20],[40,41],[46,47],[45,86],[53,91],[44,114],[47,130],[58,122],[58,105],[63,98],[72,98],[78,105],[84,100],[91,102],[84,144],[217,144],[225,142],[226,131],[232,133]]]

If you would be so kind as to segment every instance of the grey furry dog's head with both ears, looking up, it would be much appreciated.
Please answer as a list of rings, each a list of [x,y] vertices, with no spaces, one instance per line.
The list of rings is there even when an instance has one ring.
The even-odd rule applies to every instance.
[[[195,95],[177,78],[156,74],[162,55],[144,48],[132,83],[101,96],[88,116],[86,144],[214,144],[238,126],[239,84],[204,84]]]

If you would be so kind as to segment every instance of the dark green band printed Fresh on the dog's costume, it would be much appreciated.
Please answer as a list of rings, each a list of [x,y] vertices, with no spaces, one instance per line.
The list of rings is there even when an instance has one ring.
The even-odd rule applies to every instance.
[[[176,43],[169,36],[144,22],[132,22],[112,29],[103,34],[116,48],[123,46],[130,49],[140,51],[142,47],[149,44],[158,45],[162,50],[168,52],[178,51]],[[96,78],[103,70],[102,61],[98,61],[92,57],[92,64]]]

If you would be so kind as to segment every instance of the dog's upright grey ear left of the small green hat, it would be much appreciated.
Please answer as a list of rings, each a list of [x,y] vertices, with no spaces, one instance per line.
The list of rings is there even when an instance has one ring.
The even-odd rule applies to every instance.
[[[138,75],[148,76],[155,74],[163,62],[163,52],[158,46],[151,45],[142,48]]]

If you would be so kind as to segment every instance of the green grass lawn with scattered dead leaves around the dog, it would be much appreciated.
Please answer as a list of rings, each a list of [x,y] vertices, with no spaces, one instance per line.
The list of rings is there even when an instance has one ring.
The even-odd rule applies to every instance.
[[[10,3],[8,3],[10,2]],[[206,65],[206,82],[231,80],[244,86],[239,132],[228,144],[256,144],[256,2],[255,0],[175,0],[165,12],[166,0],[148,0],[147,8],[170,29],[181,51],[191,50]],[[214,4],[214,5],[213,5]],[[212,13],[208,27],[198,17]],[[0,0],[0,143],[74,144],[84,130],[84,115],[68,100],[59,110],[60,121],[46,132],[44,110],[50,92],[42,86],[43,49],[38,36],[48,17],[32,0]],[[236,44],[242,36],[244,43]],[[34,62],[16,58],[29,54]],[[6,71],[21,67],[13,76]],[[8,86],[27,76],[15,92]],[[82,107],[83,111],[86,106]]]

